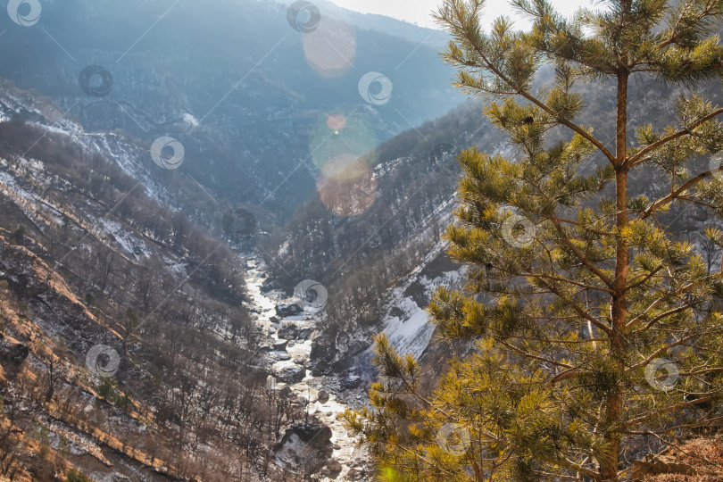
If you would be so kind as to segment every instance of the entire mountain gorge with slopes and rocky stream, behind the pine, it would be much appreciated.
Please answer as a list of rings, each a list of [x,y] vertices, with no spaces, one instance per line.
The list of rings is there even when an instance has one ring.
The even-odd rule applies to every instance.
[[[465,280],[456,155],[515,154],[447,35],[266,0],[40,0],[20,25],[33,4],[0,22],[0,479],[374,479],[341,417],[372,337],[430,390],[470,353],[425,312]],[[632,128],[669,114],[651,85]],[[611,88],[580,87],[596,131]],[[719,267],[702,210],[661,221]]]

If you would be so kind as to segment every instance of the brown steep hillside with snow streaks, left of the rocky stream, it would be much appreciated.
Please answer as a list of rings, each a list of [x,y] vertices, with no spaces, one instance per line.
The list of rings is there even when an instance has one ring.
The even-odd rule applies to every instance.
[[[300,398],[311,386],[296,387],[304,361],[278,366],[287,344],[271,348],[278,337],[257,321],[248,260],[163,201],[178,193],[124,172],[128,157],[149,153],[120,136],[88,140],[70,122],[49,128],[40,108],[21,100],[27,94],[8,92],[0,96],[0,478],[338,474],[342,447],[320,417],[338,423],[345,407],[327,394],[315,414]],[[29,113],[42,122],[19,116]],[[311,348],[311,332],[292,339]],[[342,460],[359,467],[352,450]]]

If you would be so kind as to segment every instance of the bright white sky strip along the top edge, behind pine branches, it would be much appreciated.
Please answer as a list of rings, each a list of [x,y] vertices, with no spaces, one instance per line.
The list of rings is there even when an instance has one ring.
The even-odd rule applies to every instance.
[[[436,11],[443,0],[332,0],[332,2],[356,12],[379,13],[425,27],[437,28],[429,13]],[[569,14],[580,5],[590,5],[591,1],[553,0],[553,4],[559,12]],[[511,8],[504,0],[488,0],[485,13],[489,20],[492,20],[500,15],[511,16]]]

